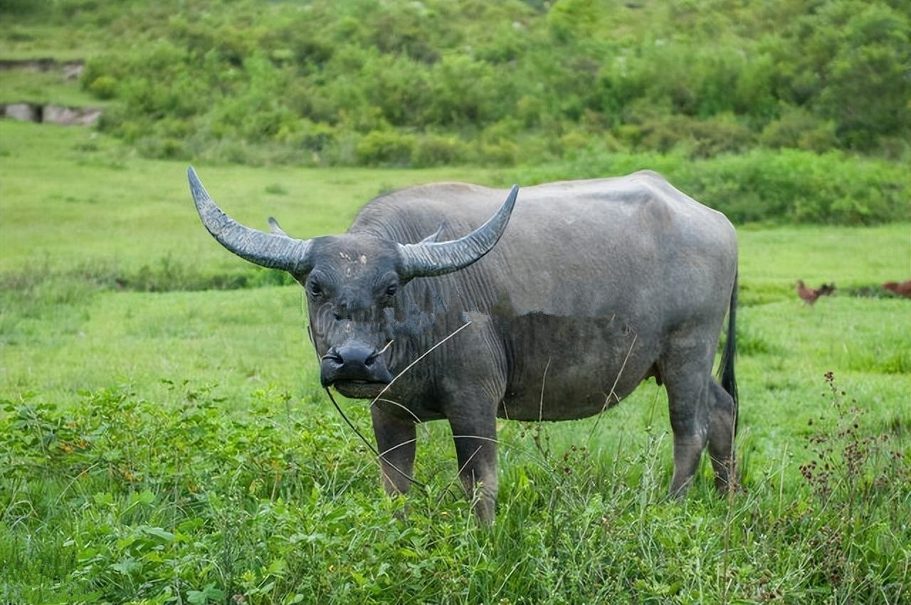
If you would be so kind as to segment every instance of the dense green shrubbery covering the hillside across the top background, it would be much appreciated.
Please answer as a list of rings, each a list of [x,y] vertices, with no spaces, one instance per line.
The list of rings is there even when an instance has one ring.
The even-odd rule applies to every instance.
[[[46,0],[42,13],[110,37],[82,83],[118,99],[103,128],[147,155],[425,166],[605,142],[901,156],[901,5]]]

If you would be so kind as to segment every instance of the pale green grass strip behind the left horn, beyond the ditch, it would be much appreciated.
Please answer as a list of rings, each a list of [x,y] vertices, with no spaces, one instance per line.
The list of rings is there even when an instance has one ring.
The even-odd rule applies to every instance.
[[[186,164],[138,159],[85,128],[9,121],[0,122],[0,157],[0,272],[44,262],[51,270],[92,265],[135,272],[162,259],[200,271],[251,271],[200,230]],[[382,191],[435,180],[504,182],[490,170],[471,168],[196,169],[235,219],[267,229],[266,218],[274,216],[298,237],[344,231]]]

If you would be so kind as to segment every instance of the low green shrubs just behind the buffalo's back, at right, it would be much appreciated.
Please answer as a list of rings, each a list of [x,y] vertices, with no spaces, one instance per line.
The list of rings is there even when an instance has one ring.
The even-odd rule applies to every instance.
[[[911,219],[906,169],[881,159],[838,151],[752,149],[741,155],[691,159],[671,154],[587,151],[574,159],[517,170],[527,185],[558,179],[599,178],[640,169],[659,171],[696,200],[735,223],[787,220],[872,224]]]

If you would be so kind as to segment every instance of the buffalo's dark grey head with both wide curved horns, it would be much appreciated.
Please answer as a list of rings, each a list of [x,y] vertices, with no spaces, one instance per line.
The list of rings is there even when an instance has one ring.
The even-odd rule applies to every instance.
[[[362,233],[298,240],[271,218],[268,233],[241,225],[211,200],[192,168],[188,178],[202,223],[222,246],[247,261],[290,272],[302,284],[322,385],[363,398],[378,395],[392,381],[389,344],[401,331],[415,330],[401,321],[400,288],[483,257],[506,229],[518,193],[513,187],[493,217],[458,240],[430,236],[399,243]]]

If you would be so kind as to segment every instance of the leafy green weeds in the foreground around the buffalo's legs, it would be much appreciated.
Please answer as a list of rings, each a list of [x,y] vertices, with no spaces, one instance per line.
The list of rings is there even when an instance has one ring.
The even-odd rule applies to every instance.
[[[379,496],[371,456],[331,410],[279,390],[255,393],[243,414],[226,413],[207,385],[170,385],[178,403],[164,406],[124,389],[67,410],[6,401],[0,532],[12,550],[0,548],[0,561],[31,574],[20,578],[38,587],[31,599],[50,602],[62,587],[84,602],[251,605],[393,594],[899,602],[906,559],[887,553],[908,538],[902,445],[866,436],[861,406],[827,385],[835,417],[814,415],[806,488],[770,483],[752,463],[745,493],[722,502],[706,476],[688,500],[666,502],[667,434],[605,452],[558,449],[543,425],[522,425],[501,436],[506,477],[489,531],[446,495],[455,467],[439,456],[419,457],[433,478],[397,520],[401,502]],[[19,557],[26,534],[31,559],[56,550],[53,568]]]

